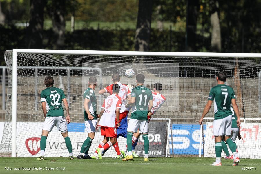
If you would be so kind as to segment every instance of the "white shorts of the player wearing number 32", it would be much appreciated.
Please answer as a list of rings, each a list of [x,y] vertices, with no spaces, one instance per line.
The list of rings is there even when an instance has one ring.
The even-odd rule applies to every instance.
[[[57,131],[66,132],[67,131],[67,122],[65,117],[46,117],[44,120],[43,130],[52,131],[52,128],[56,126]]]

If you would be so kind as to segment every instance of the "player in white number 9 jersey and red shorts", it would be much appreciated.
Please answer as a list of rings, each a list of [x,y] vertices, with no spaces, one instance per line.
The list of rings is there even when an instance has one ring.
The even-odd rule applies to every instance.
[[[96,129],[101,126],[101,134],[104,136],[104,140],[99,144],[92,158],[102,159],[102,152],[110,148],[110,146],[117,141],[116,126],[120,126],[119,115],[122,105],[122,98],[118,95],[119,90],[120,86],[118,84],[113,84],[113,93],[104,99],[99,121],[96,125]]]

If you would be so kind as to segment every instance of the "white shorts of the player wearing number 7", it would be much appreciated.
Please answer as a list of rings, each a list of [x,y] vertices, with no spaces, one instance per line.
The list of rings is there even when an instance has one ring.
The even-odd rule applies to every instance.
[[[231,135],[232,115],[213,121],[213,135]]]

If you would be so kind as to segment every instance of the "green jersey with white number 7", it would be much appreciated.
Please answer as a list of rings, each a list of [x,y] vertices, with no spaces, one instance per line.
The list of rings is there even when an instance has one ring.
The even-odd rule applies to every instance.
[[[208,100],[214,100],[214,119],[222,119],[232,115],[231,100],[235,99],[233,88],[227,85],[217,85],[211,88]]]

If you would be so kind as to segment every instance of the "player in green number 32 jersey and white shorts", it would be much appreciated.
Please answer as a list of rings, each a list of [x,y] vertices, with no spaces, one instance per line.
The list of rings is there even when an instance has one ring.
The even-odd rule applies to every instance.
[[[46,139],[49,132],[52,131],[52,128],[55,125],[57,127],[57,131],[61,131],[70,154],[70,159],[73,160],[72,143],[67,131],[67,124],[70,123],[70,113],[64,91],[53,86],[54,80],[51,76],[44,79],[44,84],[47,88],[41,92],[41,102],[45,120],[40,141],[41,156],[37,158],[37,160],[44,160]],[[64,117],[64,109],[61,102],[64,102],[66,118]]]

